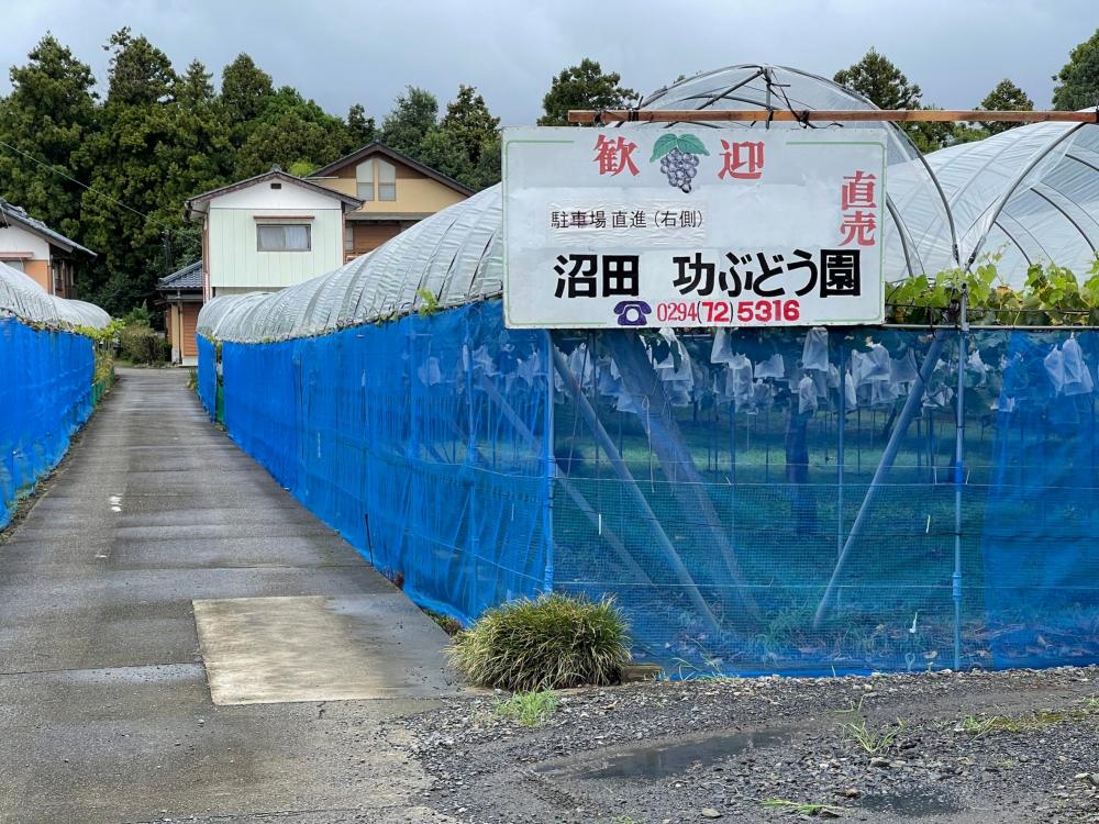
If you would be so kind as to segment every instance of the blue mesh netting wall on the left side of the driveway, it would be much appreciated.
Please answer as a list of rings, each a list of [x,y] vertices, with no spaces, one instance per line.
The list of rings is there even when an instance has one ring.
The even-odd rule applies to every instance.
[[[90,338],[0,318],[0,527],[91,414],[95,369]]]

